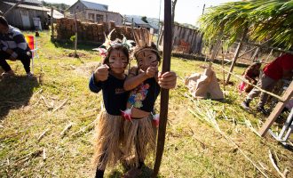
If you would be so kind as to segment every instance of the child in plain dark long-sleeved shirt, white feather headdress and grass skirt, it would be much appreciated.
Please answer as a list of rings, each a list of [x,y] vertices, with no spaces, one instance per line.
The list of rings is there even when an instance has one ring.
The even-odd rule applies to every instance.
[[[106,166],[115,166],[122,156],[123,117],[121,110],[126,108],[129,92],[123,89],[126,78],[124,70],[129,62],[130,45],[112,42],[111,33],[107,36],[105,48],[98,48],[104,57],[103,64],[96,69],[90,80],[93,93],[102,90],[106,110],[99,113],[96,125],[94,147],[94,165],[97,166],[96,177],[103,177]]]

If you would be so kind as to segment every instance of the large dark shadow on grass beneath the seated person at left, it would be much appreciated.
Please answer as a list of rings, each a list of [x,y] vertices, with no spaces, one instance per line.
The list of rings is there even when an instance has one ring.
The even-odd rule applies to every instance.
[[[20,109],[28,105],[34,87],[38,86],[36,77],[5,77],[0,79],[0,120],[8,115],[10,109]]]

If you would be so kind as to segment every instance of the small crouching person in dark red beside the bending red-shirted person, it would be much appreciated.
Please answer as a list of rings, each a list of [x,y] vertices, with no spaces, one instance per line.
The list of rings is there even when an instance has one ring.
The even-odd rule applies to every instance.
[[[257,77],[260,73],[261,62],[253,62],[242,74],[242,76],[249,81],[249,83],[256,85]],[[249,93],[253,86],[246,84],[244,81],[238,86],[239,90]]]

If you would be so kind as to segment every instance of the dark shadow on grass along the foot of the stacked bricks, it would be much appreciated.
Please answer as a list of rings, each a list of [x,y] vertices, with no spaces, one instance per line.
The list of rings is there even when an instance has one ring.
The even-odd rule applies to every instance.
[[[65,48],[65,49],[75,49],[75,44],[71,41],[51,41],[52,44],[55,45],[56,48]],[[98,48],[101,45],[101,43],[97,44],[91,44],[91,43],[86,43],[86,42],[78,42],[77,43],[77,49],[78,50],[84,50],[84,51],[89,51],[91,52],[93,48]]]

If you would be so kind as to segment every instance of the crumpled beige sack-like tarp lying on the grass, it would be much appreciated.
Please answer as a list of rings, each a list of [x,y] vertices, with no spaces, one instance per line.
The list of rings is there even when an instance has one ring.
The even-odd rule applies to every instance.
[[[223,100],[224,94],[218,85],[215,72],[208,68],[202,74],[195,73],[186,77],[186,86],[189,92],[197,99]]]

